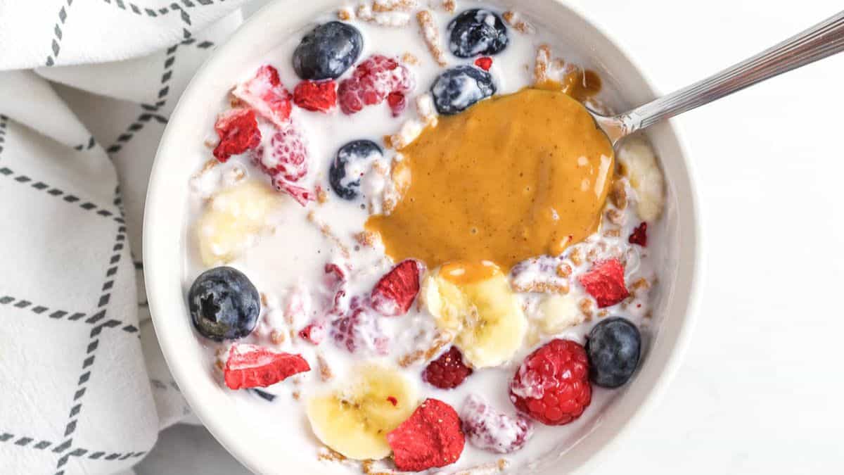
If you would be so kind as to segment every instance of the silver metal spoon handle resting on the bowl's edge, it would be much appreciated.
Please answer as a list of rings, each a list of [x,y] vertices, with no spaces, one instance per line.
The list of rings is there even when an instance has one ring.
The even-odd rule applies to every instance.
[[[589,111],[615,146],[619,139],[663,119],[703,106],[749,85],[844,50],[844,12],[814,25],[707,79],[676,90],[630,112],[603,116]]]

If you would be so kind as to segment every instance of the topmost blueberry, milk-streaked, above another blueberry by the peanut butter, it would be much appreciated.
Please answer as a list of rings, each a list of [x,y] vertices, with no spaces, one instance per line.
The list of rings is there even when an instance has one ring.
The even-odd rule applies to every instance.
[[[456,57],[491,56],[507,47],[507,27],[498,14],[473,8],[458,14],[448,24],[448,48]]]

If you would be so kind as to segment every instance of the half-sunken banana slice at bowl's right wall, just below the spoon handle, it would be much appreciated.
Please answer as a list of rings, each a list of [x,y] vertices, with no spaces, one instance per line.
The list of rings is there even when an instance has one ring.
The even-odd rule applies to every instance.
[[[618,158],[621,174],[630,179],[638,195],[639,217],[643,221],[657,220],[665,205],[665,183],[651,145],[640,137],[626,139]]]

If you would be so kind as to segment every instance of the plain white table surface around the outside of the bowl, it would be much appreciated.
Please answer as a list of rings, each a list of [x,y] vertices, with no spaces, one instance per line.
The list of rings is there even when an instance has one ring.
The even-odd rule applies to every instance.
[[[572,3],[663,91],[842,8],[835,0]],[[701,311],[663,401],[599,473],[844,473],[842,85],[844,55],[677,119],[705,215]],[[165,431],[138,466],[139,475],[241,472],[204,429],[185,426]]]

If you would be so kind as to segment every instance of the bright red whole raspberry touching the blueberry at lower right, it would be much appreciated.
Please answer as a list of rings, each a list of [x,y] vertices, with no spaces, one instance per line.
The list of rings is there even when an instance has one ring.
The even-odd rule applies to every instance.
[[[510,382],[510,401],[548,425],[571,423],[592,401],[586,350],[571,340],[552,340],[527,355]]]

